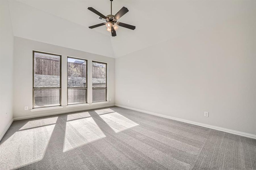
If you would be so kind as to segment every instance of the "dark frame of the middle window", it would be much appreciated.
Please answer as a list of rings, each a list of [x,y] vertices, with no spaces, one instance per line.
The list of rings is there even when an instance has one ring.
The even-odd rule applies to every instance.
[[[86,61],[86,87],[68,87],[68,58],[80,59],[80,60]],[[86,104],[86,103],[68,104],[68,89],[85,89],[86,90],[86,103],[88,103],[88,60],[87,59],[67,56],[67,106]]]

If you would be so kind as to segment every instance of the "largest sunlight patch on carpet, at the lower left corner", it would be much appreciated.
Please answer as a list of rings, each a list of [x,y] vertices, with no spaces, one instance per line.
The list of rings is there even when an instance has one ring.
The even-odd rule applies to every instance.
[[[54,127],[15,132],[0,145],[0,169],[16,169],[42,160]]]

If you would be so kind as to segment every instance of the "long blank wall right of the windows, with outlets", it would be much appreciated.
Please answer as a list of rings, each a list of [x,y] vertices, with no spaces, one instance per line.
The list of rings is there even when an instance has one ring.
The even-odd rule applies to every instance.
[[[116,104],[256,135],[255,11],[117,58]]]

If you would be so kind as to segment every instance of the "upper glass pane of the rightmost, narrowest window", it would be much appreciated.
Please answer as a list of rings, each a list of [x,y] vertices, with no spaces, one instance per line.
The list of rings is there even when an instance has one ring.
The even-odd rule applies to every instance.
[[[106,87],[105,63],[92,62],[92,87]]]

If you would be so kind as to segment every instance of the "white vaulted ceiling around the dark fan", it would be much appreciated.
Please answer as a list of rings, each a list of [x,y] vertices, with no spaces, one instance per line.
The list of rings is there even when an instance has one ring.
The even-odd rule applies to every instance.
[[[88,10],[93,7],[110,14],[110,1],[9,1],[14,36],[120,57],[173,37],[199,31],[255,10],[255,1],[113,1],[113,14],[127,7],[118,21],[135,25],[135,30],[119,27],[111,37],[105,26]]]

